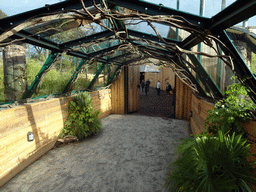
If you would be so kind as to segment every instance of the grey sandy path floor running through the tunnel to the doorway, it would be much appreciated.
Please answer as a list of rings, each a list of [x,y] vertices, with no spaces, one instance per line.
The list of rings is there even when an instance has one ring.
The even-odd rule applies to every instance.
[[[164,191],[175,141],[189,136],[189,123],[142,115],[101,121],[100,134],[49,151],[0,191]]]

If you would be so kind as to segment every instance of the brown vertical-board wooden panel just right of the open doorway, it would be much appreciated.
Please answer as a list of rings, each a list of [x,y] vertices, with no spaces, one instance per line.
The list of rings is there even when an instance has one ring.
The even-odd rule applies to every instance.
[[[175,118],[189,120],[192,90],[176,77]]]

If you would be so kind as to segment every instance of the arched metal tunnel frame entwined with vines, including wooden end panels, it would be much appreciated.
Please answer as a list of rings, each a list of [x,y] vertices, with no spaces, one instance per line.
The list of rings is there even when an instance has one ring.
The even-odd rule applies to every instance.
[[[175,118],[189,119],[193,112],[193,98],[214,101],[223,98],[225,87],[221,86],[221,66],[228,67],[237,76],[256,102],[256,77],[231,42],[227,34],[230,30],[226,31],[254,16],[255,10],[254,0],[238,0],[213,17],[206,18],[140,0],[66,0],[0,19],[0,47],[27,43],[50,52],[35,80],[19,99],[22,104],[37,92],[56,60],[66,54],[79,58],[80,63],[62,92],[56,93],[61,105],[66,105],[72,97],[67,96],[72,95],[79,74],[97,62],[99,66],[94,77],[80,91],[92,91],[100,74],[107,68],[106,90],[92,95],[101,102],[111,102],[111,112],[105,115],[135,112],[139,102],[139,66],[153,58],[163,71],[171,71],[162,75],[164,80],[168,74],[174,77]],[[140,22],[146,23],[153,32],[149,34],[128,27]],[[61,43],[49,38],[87,25],[99,26],[101,30]],[[167,37],[161,35],[161,26],[169,28]],[[198,51],[199,44],[206,48]],[[216,60],[216,67],[215,73],[210,74],[213,70],[207,69],[202,62],[212,58]],[[107,99],[109,88],[111,98]],[[8,101],[1,106],[10,106],[14,102]],[[211,108],[208,104],[195,102],[199,114]],[[64,119],[66,111],[60,110],[65,113]],[[32,109],[26,106],[25,111],[29,114]],[[32,115],[29,121],[35,123],[33,118]],[[6,176],[6,180],[10,177]]]

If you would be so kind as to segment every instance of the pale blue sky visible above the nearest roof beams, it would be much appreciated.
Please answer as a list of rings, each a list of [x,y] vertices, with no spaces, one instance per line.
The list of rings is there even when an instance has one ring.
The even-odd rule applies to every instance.
[[[155,4],[163,4],[164,6],[175,8],[177,0],[148,0]],[[199,15],[200,0],[179,0],[180,10]],[[58,3],[60,0],[0,0],[0,9],[7,15],[15,15],[45,6],[45,4]],[[205,0],[205,17],[212,17],[221,10],[222,0]],[[235,0],[226,0],[226,6],[229,6]],[[250,18],[248,26],[256,26],[256,16]]]

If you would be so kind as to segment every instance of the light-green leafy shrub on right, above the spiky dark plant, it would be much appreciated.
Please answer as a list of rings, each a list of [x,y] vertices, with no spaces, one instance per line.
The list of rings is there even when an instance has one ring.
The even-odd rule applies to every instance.
[[[214,110],[208,111],[205,126],[213,134],[218,130],[230,135],[233,132],[244,134],[242,124],[252,119],[251,110],[255,109],[255,104],[248,99],[247,88],[242,84],[229,86],[225,94],[227,97],[219,100]]]

